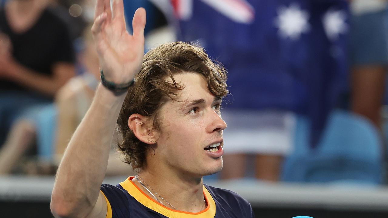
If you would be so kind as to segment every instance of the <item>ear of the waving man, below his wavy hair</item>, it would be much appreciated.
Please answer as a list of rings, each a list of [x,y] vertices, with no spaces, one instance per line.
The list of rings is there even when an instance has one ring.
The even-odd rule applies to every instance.
[[[128,118],[128,127],[133,131],[136,138],[146,144],[155,144],[159,137],[158,131],[152,130],[153,121],[149,117],[140,114],[132,114]]]

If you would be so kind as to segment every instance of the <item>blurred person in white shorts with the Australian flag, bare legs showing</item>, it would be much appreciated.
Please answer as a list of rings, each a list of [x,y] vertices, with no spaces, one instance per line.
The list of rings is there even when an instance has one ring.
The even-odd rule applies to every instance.
[[[294,114],[310,118],[314,147],[347,88],[348,2],[172,2],[179,40],[199,42],[229,73],[222,178],[241,178],[249,166],[256,178],[277,180],[292,150]]]

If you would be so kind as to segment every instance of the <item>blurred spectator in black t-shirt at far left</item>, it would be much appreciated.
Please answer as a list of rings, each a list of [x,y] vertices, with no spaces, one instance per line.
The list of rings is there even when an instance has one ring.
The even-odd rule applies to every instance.
[[[74,76],[68,30],[48,3],[9,0],[0,9],[0,174],[33,141],[42,106]]]

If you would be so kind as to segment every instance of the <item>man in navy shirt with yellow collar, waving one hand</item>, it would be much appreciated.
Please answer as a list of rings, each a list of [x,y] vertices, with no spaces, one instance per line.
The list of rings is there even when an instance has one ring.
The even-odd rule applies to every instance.
[[[59,166],[54,216],[254,217],[249,202],[202,182],[223,165],[225,72],[201,48],[182,42],[161,45],[143,61],[144,9],[132,26],[129,35],[121,0],[113,1],[113,11],[109,0],[97,0],[92,32],[104,85]],[[116,120],[119,147],[139,174],[101,185]]]

